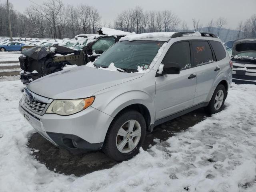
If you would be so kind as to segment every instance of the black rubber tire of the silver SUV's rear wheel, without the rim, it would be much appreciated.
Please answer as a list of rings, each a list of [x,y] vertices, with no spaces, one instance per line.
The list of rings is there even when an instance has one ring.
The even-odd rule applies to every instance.
[[[223,102],[220,106],[219,109],[216,110],[216,108],[214,107],[214,101],[215,101],[215,97],[216,97],[216,94],[219,92],[219,90],[222,90],[223,93],[224,93],[224,98],[223,98]],[[215,113],[218,113],[220,112],[222,109],[223,109],[223,106],[224,106],[224,102],[225,102],[225,99],[226,99],[226,88],[224,87],[224,85],[222,84],[219,84],[213,95],[212,95],[212,99],[210,100],[208,106],[204,107],[204,110],[208,113],[208,114],[215,114]]]

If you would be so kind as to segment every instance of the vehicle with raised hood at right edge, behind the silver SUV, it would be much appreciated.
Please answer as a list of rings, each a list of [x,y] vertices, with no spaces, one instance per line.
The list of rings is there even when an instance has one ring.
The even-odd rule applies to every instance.
[[[233,82],[256,84],[256,39],[238,39],[232,47]]]

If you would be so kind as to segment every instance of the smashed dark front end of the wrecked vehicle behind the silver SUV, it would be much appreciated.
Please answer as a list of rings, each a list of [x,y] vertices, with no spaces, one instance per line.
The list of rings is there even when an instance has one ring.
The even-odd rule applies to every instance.
[[[23,50],[19,57],[20,80],[28,84],[42,76],[61,71],[66,65],[84,65],[84,52],[64,46],[34,47]]]

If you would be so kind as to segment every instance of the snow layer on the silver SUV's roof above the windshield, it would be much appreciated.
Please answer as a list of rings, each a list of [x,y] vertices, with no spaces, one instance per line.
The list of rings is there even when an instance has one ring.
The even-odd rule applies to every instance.
[[[142,33],[132,34],[120,38],[119,41],[134,41],[134,40],[163,40],[166,41],[176,32],[154,32],[154,33]],[[153,39],[152,39],[153,38]]]

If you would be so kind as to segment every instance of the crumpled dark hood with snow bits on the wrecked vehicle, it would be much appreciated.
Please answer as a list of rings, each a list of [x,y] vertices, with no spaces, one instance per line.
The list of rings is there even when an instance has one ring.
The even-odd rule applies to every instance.
[[[35,46],[33,48],[25,49],[21,53],[35,60],[40,60],[47,55],[55,55],[56,53],[66,55],[76,51],[77,50],[54,44],[50,47]]]

